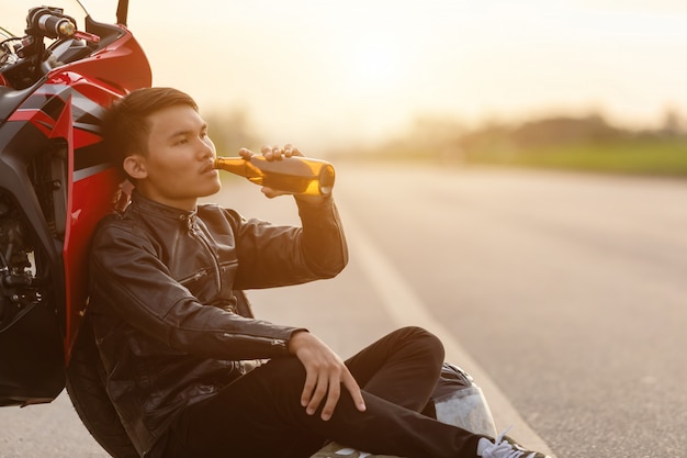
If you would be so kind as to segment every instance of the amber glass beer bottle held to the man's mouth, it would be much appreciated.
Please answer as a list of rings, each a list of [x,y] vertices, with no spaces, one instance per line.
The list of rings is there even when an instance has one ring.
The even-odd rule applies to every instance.
[[[215,168],[292,194],[329,196],[334,188],[334,166],[309,157],[291,156],[275,160],[267,160],[259,155],[249,160],[243,157],[217,157]]]

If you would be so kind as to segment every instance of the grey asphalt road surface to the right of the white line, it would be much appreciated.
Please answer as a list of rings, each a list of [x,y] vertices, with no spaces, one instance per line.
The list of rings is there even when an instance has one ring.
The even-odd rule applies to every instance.
[[[347,211],[558,456],[687,456],[687,182],[373,178]]]

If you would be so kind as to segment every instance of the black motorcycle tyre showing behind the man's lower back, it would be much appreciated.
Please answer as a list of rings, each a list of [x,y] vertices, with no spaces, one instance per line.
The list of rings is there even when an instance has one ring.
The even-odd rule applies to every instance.
[[[103,373],[87,315],[67,367],[67,393],[86,428],[112,457],[139,458],[105,392]]]

